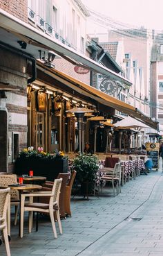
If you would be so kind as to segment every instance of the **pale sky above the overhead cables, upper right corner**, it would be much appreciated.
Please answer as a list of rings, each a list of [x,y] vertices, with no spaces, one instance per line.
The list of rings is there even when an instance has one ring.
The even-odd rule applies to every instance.
[[[119,22],[163,30],[163,0],[81,0],[85,6]]]

